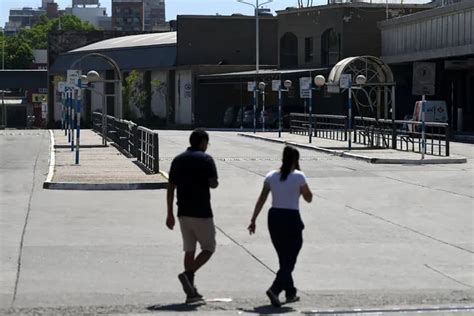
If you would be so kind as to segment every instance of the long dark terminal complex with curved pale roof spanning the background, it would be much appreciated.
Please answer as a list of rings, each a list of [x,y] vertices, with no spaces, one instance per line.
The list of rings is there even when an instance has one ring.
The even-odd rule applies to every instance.
[[[450,122],[454,128],[461,126],[456,121],[457,113],[461,113],[459,122],[462,120],[463,126],[458,129],[470,130],[473,126],[469,120],[472,106],[469,92],[472,90],[469,88],[472,82],[472,28],[461,28],[460,25],[472,23],[469,19],[473,6],[470,1],[450,4],[404,1],[388,5],[358,1],[277,11],[276,17],[262,16],[260,19],[258,73],[255,71],[255,17],[178,16],[176,32],[116,38],[60,54],[50,64],[50,82],[64,76],[74,60],[91,53],[104,54],[117,61],[124,78],[133,70],[140,75],[140,84],[147,91],[144,108],[149,110],[142,111],[142,107],[129,112],[133,112],[135,119],[151,116],[160,122],[160,126],[168,127],[222,127],[229,107],[242,109],[253,104],[248,82],[263,81],[271,87],[272,80],[292,80],[293,87],[284,95],[284,104],[295,111],[305,112],[308,104],[298,92],[299,78],[318,74],[327,78],[338,61],[351,56],[371,55],[381,57],[392,68],[396,83],[395,118],[403,119],[413,113],[415,101],[419,98],[412,94],[412,63],[434,60],[437,65],[436,80],[444,81],[437,81],[437,87],[441,85],[442,89],[437,89],[437,95],[433,98],[452,102],[450,98],[454,95],[452,104],[455,105],[450,108],[450,115],[456,118],[450,117]],[[444,18],[456,14],[459,16]],[[428,37],[434,35],[421,35],[425,33],[415,30],[427,32],[427,23],[435,25],[433,21],[438,21],[439,17],[442,17],[441,25],[448,27],[452,23],[457,28],[448,27],[451,37],[446,37],[444,49],[428,49]],[[407,31],[407,25],[416,26]],[[401,35],[394,35],[397,30],[403,30],[399,32]],[[209,37],[211,32],[213,36]],[[459,32],[463,35],[458,35]],[[416,44],[419,41],[413,36],[418,36],[426,51],[417,48],[416,45],[420,44]],[[460,42],[461,38],[465,42]],[[435,42],[436,45],[442,43]],[[405,46],[392,50],[393,43]],[[409,43],[415,43],[415,46],[410,48]],[[85,72],[95,69],[106,79],[117,79],[110,67],[92,59],[82,60],[81,66]],[[446,80],[450,80],[449,84]],[[449,87],[454,89],[449,90]],[[95,89],[106,95],[108,113],[118,113],[113,87],[97,84]],[[99,109],[98,104],[102,102],[100,96],[95,92],[88,93],[91,93],[87,97],[89,101],[86,100],[91,104],[89,111]],[[268,107],[275,107],[278,103],[277,93],[270,88],[265,98]],[[346,114],[346,100],[347,95],[343,93],[334,94],[322,89],[315,92],[313,111],[316,114]],[[127,101],[125,103],[130,105]],[[382,112],[374,115],[387,117],[387,113]],[[58,114],[54,113],[51,119],[57,120]]]

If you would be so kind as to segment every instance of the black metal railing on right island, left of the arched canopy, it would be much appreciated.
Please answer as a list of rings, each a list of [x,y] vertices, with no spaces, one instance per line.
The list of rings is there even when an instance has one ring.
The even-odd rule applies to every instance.
[[[313,136],[333,140],[347,140],[347,116],[313,114]],[[290,133],[308,135],[309,114],[290,113]]]

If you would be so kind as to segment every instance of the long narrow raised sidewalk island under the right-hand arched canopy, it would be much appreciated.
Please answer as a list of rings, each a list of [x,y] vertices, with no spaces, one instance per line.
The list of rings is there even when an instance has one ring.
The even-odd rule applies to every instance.
[[[393,149],[369,149],[364,145],[354,143],[352,144],[352,150],[349,151],[346,141],[313,137],[312,143],[309,143],[308,136],[290,133],[281,133],[281,138],[278,137],[278,132],[257,132],[256,134],[247,132],[238,133],[238,135],[377,164],[452,164],[467,162],[465,157],[459,155],[450,155],[449,157],[425,155],[425,159],[422,160],[419,153]]]

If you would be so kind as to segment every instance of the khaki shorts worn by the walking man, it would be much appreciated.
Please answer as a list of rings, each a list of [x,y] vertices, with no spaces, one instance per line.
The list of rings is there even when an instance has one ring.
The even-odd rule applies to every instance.
[[[214,252],[216,250],[216,228],[214,219],[180,216],[179,226],[183,235],[183,250],[196,251],[196,242],[202,250]]]

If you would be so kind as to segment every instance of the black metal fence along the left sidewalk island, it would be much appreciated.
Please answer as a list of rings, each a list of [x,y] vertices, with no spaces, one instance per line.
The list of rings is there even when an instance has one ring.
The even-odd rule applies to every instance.
[[[107,125],[107,138],[114,142],[130,157],[136,157],[145,169],[159,172],[159,137],[158,133],[132,121],[121,120],[102,113],[92,113],[92,129],[98,134],[103,133],[103,124]]]

